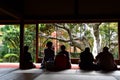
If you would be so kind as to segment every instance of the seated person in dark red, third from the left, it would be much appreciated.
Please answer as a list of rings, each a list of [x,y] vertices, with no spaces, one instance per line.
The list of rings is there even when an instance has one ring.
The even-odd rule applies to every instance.
[[[60,46],[60,52],[55,57],[55,66],[61,70],[71,68],[70,55],[64,45]]]

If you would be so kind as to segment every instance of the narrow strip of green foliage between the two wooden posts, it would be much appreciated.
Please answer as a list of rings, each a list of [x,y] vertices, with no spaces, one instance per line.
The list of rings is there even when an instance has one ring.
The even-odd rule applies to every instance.
[[[29,46],[29,52],[32,54],[33,61],[35,61],[36,53],[36,26],[34,24],[24,25],[24,45]]]

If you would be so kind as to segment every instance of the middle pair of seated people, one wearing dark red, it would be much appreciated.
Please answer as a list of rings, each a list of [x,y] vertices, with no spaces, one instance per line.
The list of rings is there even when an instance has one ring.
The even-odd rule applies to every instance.
[[[61,45],[60,52],[55,56],[54,49],[52,48],[52,42],[47,42],[46,47],[44,49],[44,58],[41,63],[41,69],[48,69],[48,70],[63,70],[63,69],[70,69],[71,62],[69,57],[69,52],[65,49],[64,45]]]

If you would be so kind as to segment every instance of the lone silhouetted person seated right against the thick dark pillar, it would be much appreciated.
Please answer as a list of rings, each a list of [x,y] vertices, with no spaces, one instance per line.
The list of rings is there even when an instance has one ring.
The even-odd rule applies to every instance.
[[[25,69],[35,68],[36,66],[32,62],[31,53],[28,52],[29,46],[24,46],[24,63]]]

